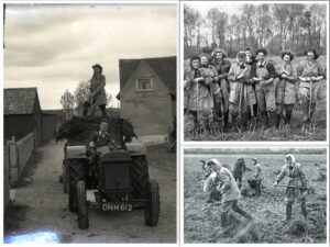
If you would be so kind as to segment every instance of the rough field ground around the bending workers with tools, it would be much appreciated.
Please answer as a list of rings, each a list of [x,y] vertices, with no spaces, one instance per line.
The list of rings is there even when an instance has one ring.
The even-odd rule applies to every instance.
[[[275,188],[273,182],[283,166],[285,154],[272,155],[186,155],[184,170],[184,234],[185,243],[326,243],[327,242],[327,181],[319,180],[319,170],[315,164],[327,164],[326,155],[295,155],[297,162],[304,166],[308,178],[308,187],[312,188],[307,195],[307,210],[309,222],[305,222],[300,213],[300,206],[295,203],[293,206],[293,223],[284,224],[285,220],[285,188]],[[206,206],[207,195],[202,193],[201,177],[204,171],[198,165],[199,159],[218,158],[221,164],[229,164],[232,168],[239,157],[244,157],[249,171],[244,177],[246,180],[253,175],[251,158],[256,157],[264,169],[264,181],[262,195],[242,197],[240,205],[252,214],[256,224],[253,233],[249,232],[243,236],[224,238],[220,235],[220,205]],[[284,183],[282,181],[282,183]],[[239,220],[244,222],[240,215]],[[289,227],[294,223],[302,222],[307,231],[294,233]],[[233,236],[237,236],[234,229]]]

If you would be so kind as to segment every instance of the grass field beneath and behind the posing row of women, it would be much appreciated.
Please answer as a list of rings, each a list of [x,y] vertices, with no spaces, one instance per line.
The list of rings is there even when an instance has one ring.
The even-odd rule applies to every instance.
[[[230,63],[235,63],[235,58],[228,58]],[[267,58],[273,64],[282,63],[277,56]],[[297,57],[293,60],[294,67],[305,57]],[[327,57],[320,56],[318,61],[321,66],[326,67]],[[185,60],[185,70],[188,69],[189,63]],[[317,110],[314,114],[315,132],[306,133],[301,132],[302,127],[302,112],[295,108],[292,119],[292,128],[289,131],[284,130],[266,130],[266,131],[253,131],[242,132],[232,131],[229,133],[219,134],[193,134],[185,132],[185,141],[326,141],[327,139],[327,81],[321,81],[319,86],[319,96],[317,102]]]

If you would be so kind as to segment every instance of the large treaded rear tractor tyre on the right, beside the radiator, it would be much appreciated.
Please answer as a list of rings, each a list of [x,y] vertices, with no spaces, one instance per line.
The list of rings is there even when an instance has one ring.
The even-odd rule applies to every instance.
[[[132,156],[130,167],[134,199],[144,199],[148,186],[148,168],[145,155]]]

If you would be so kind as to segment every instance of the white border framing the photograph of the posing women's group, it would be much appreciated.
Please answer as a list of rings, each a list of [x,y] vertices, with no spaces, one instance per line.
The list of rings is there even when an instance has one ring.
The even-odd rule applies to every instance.
[[[197,3],[200,2],[201,4],[209,4],[212,5],[216,1],[180,1],[180,58],[184,58],[184,4],[187,3]],[[232,3],[324,3],[327,4],[327,21],[329,21],[329,1],[218,1],[221,3],[226,3],[226,4],[232,4]],[[329,22],[327,23],[327,79],[329,80]],[[290,145],[298,145],[298,146],[305,146],[305,145],[327,145],[329,143],[329,83],[327,83],[327,139],[326,141],[316,141],[316,142],[292,142],[292,141],[245,141],[245,142],[241,142],[241,141],[207,141],[207,142],[202,142],[202,141],[185,141],[185,136],[184,136],[184,59],[180,59],[180,78],[179,78],[179,97],[180,97],[180,101],[179,101],[179,105],[180,105],[180,144],[185,145],[185,146],[190,146],[190,145],[208,145],[208,146],[212,146],[212,145],[221,145],[224,144],[226,145],[233,145],[233,146],[246,146],[246,145],[255,145],[255,144],[263,144],[263,145],[272,145],[272,146],[280,146],[284,143],[285,144],[290,144]]]

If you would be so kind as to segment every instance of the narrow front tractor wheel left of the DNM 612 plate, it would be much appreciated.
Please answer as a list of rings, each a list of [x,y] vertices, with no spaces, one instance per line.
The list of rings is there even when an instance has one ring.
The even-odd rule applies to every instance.
[[[87,229],[89,226],[88,207],[86,201],[86,184],[85,181],[77,182],[77,199],[78,199],[78,227]]]

